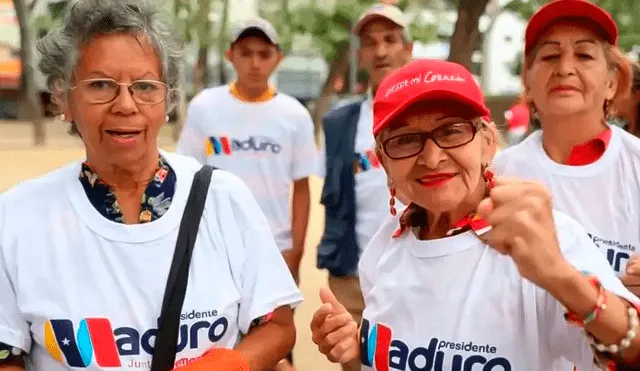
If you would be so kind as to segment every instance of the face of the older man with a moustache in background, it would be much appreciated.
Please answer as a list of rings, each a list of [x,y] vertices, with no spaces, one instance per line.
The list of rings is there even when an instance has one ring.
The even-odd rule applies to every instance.
[[[358,56],[374,87],[391,72],[411,61],[413,44],[405,42],[402,28],[383,19],[369,21],[360,32]]]

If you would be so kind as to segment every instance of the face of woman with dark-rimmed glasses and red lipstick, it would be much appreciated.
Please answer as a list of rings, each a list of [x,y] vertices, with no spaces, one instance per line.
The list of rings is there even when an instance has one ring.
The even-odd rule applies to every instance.
[[[476,195],[484,195],[482,164],[489,163],[496,151],[491,130],[483,128],[478,119],[453,112],[456,110],[410,109],[378,139],[382,144],[378,156],[398,192],[432,212],[452,212]],[[436,137],[443,147],[458,146],[443,149],[431,138],[422,146],[419,137],[424,133]],[[392,158],[412,153],[415,155]]]

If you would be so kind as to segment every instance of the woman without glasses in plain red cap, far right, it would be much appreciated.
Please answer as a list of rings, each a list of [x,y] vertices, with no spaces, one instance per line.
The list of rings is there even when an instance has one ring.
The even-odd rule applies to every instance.
[[[637,294],[640,141],[607,123],[631,87],[617,39],[611,16],[588,1],[556,0],[531,17],[522,77],[542,130],[503,151],[493,169],[543,182]]]

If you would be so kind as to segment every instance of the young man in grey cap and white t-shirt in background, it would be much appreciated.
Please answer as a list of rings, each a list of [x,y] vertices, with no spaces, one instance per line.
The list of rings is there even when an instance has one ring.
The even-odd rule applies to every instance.
[[[193,98],[178,152],[244,180],[299,282],[310,210],[309,175],[316,172],[318,161],[313,121],[301,103],[269,84],[283,58],[269,22],[255,18],[240,24],[226,55],[237,80]]]

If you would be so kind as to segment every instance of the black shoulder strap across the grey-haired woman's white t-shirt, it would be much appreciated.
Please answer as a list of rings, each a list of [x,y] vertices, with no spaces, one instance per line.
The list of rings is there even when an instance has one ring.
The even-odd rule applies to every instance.
[[[174,369],[178,346],[180,312],[187,292],[189,265],[193,246],[198,235],[202,212],[204,211],[211,174],[215,168],[205,165],[193,178],[191,192],[182,215],[178,240],[169,269],[167,286],[162,300],[158,335],[156,336],[151,371],[170,371]]]

